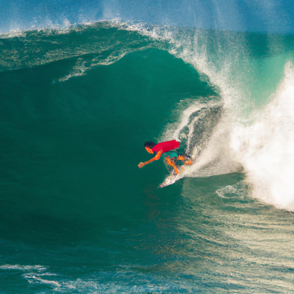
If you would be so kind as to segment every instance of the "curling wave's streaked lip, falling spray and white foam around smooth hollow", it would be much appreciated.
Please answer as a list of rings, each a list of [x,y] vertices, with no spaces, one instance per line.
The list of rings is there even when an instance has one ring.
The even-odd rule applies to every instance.
[[[17,51],[20,44],[23,50]],[[293,210],[292,44],[290,35],[103,21],[2,35],[0,66],[14,70],[74,56],[72,70],[58,79],[62,82],[136,50],[168,50],[219,93],[186,99],[180,120],[168,124],[161,136],[183,141],[195,161],[179,178],[243,169],[253,197]]]

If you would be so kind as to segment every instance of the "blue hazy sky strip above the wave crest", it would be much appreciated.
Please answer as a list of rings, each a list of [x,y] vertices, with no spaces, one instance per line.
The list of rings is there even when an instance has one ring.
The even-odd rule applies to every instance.
[[[294,33],[292,0],[0,0],[0,32],[101,19]]]

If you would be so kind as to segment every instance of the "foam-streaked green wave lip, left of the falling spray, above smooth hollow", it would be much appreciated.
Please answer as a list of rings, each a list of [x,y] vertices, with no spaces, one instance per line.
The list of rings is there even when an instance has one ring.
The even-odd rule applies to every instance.
[[[64,31],[44,29],[2,34],[0,70],[34,67],[77,56],[89,67],[111,64],[124,54],[156,46],[151,38],[126,31],[124,27],[102,21]]]

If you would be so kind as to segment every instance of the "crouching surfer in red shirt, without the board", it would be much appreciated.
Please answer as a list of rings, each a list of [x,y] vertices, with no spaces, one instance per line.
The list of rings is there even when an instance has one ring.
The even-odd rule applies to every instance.
[[[171,141],[165,141],[165,142],[161,142],[161,143],[158,143],[155,145],[154,142],[145,142],[144,144],[144,147],[146,149],[146,151],[148,153],[151,153],[153,154],[154,152],[156,152],[156,155],[151,158],[150,160],[146,161],[146,162],[140,162],[138,164],[138,167],[141,168],[142,166],[148,164],[148,163],[151,163],[152,161],[154,160],[158,160],[161,155],[165,152],[168,152],[168,151],[171,151],[173,149],[177,149],[179,148],[180,146],[180,142],[176,141],[176,140],[171,140]],[[174,162],[174,159],[177,159],[177,160],[185,160],[186,158],[184,156],[178,156],[177,158],[175,157],[172,157],[172,158],[169,158],[169,156],[167,156],[166,158],[166,163],[170,166],[172,166],[175,171],[176,171],[176,174],[180,173],[175,165],[175,162]],[[184,162],[184,164],[192,164],[192,161],[191,160],[187,160]]]

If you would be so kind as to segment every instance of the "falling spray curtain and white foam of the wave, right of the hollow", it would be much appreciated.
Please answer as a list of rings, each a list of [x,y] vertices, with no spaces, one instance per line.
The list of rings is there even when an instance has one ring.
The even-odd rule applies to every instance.
[[[130,29],[168,40],[169,52],[192,64],[220,93],[222,105],[197,101],[183,111],[176,128],[168,126],[162,136],[185,138],[185,151],[195,161],[175,179],[243,171],[251,196],[293,210],[294,74],[289,40],[261,35],[263,54],[255,56],[258,38],[248,34],[143,24]],[[260,72],[269,65],[278,74]]]

